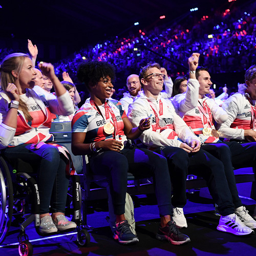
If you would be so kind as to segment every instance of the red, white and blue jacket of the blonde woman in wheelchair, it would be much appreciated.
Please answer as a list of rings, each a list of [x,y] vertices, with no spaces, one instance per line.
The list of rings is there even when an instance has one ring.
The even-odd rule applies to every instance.
[[[74,105],[68,91],[55,97],[35,86],[27,89],[26,94],[20,95],[26,101],[33,120],[28,122],[21,110],[18,110],[17,129],[3,123],[9,111],[10,99],[4,91],[0,92],[0,149],[17,146],[24,143],[38,143],[53,141],[49,133],[52,115],[70,115],[74,112]]]

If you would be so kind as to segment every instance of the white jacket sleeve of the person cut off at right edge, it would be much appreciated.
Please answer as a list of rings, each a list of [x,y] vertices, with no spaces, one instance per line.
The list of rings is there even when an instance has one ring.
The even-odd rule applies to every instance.
[[[244,140],[244,130],[243,129],[230,128],[230,125],[233,123],[234,119],[237,118],[237,115],[239,112],[238,98],[236,96],[229,97],[222,104],[222,108],[226,111],[228,118],[224,123],[222,123],[219,126],[218,131],[221,133],[220,136],[227,138],[227,139]]]

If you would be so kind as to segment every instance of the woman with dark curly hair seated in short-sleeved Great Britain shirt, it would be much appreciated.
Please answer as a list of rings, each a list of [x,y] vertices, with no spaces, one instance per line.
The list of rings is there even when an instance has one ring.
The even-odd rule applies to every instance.
[[[89,155],[94,174],[109,179],[110,194],[116,215],[114,238],[121,244],[138,242],[124,217],[127,172],[135,177],[155,178],[155,191],[160,214],[157,239],[179,245],[190,239],[175,226],[171,214],[171,191],[167,161],[161,155],[130,145],[150,128],[145,117],[134,127],[128,120],[119,101],[109,99],[115,79],[114,66],[104,61],[81,63],[77,77],[84,82],[91,97],[83,104],[72,120],[72,152]],[[144,177],[143,177],[144,176]]]

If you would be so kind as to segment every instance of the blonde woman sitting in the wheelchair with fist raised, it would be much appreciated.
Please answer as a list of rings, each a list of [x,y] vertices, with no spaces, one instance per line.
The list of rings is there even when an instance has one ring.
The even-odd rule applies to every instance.
[[[13,53],[2,62],[0,148],[9,159],[15,157],[25,162],[39,163],[39,232],[48,234],[76,227],[65,217],[68,159],[58,152],[58,147],[50,144],[54,138],[49,133],[51,113],[70,115],[74,106],[67,90],[55,75],[53,66],[41,63],[39,68],[53,81],[57,98],[35,87],[36,71],[28,55]],[[51,216],[50,204],[53,211]]]

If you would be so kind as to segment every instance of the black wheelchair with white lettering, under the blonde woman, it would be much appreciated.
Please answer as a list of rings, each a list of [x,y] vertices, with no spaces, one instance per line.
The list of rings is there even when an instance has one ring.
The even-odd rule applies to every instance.
[[[34,222],[37,233],[42,236],[38,231],[40,198],[37,183],[33,177],[34,169],[35,165],[16,159],[15,156],[13,159],[6,159],[0,155],[0,244],[6,238],[12,220],[17,216],[25,218],[25,221],[20,224],[18,251],[19,255],[26,256],[33,254],[33,246],[29,242],[25,228]],[[81,246],[87,246],[90,243],[90,234],[82,220],[79,176],[71,175],[70,180],[72,186],[69,186],[68,195],[72,197],[72,221],[77,224],[77,242]],[[27,215],[28,212],[30,212],[29,215]]]

